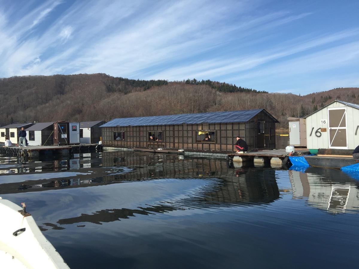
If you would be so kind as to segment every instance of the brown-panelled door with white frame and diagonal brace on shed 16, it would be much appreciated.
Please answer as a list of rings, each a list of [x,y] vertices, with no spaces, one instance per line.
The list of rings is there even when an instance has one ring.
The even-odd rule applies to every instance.
[[[346,108],[328,108],[329,148],[348,149]]]

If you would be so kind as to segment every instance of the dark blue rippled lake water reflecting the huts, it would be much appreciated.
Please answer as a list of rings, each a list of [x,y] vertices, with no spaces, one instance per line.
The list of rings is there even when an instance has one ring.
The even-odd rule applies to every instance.
[[[355,178],[149,152],[0,156],[0,196],[26,202],[70,268],[353,268]]]

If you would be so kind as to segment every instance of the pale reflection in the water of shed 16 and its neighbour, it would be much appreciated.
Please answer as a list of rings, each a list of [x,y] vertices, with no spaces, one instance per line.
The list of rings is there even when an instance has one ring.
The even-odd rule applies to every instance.
[[[315,167],[309,167],[306,173],[289,170],[293,198],[308,197],[310,206],[332,213],[359,209],[359,189],[356,180],[334,169],[321,169],[320,175],[315,173],[317,171]]]

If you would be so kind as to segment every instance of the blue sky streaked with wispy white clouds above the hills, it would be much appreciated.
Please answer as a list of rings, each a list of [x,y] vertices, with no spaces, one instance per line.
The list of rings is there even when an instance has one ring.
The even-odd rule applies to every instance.
[[[106,73],[276,93],[359,86],[359,1],[0,0],[0,77]]]

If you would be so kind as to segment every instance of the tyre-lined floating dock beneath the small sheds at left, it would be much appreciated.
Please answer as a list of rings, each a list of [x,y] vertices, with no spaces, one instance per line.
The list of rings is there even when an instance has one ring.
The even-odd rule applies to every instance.
[[[79,144],[63,146],[27,146],[27,147],[0,147],[0,154],[13,157],[32,157],[37,158],[40,154],[61,154],[69,155],[71,153],[102,151],[103,146],[99,144]]]

